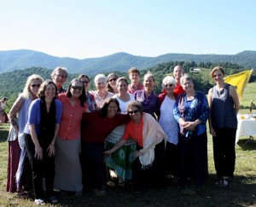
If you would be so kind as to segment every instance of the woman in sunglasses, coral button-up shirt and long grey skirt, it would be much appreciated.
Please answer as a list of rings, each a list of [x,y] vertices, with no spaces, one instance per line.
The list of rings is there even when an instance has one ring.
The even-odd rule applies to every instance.
[[[55,141],[55,188],[80,195],[83,189],[79,161],[80,123],[83,113],[87,111],[83,83],[73,79],[67,94],[59,95],[59,100],[63,109]]]

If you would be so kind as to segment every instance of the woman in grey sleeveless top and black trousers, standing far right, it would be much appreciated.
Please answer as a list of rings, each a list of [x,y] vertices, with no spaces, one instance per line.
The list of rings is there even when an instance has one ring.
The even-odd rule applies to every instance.
[[[226,187],[235,171],[239,99],[235,87],[224,83],[224,69],[221,66],[214,67],[211,76],[216,83],[208,93],[209,128],[213,139],[215,170],[219,179],[216,184]]]

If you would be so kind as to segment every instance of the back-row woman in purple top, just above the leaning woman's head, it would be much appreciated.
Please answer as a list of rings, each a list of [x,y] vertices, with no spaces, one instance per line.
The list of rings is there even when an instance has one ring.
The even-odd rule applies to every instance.
[[[151,72],[144,75],[144,89],[137,90],[134,93],[135,99],[140,101],[143,106],[143,112],[151,114],[155,119],[155,114],[159,112],[160,103],[157,95],[154,94],[154,76]]]

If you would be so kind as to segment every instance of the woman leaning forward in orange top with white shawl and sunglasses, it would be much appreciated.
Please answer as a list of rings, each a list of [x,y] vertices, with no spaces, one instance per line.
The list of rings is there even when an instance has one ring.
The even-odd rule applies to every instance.
[[[163,184],[167,136],[150,114],[143,113],[143,106],[139,101],[131,101],[126,108],[131,121],[126,125],[125,134],[112,149],[104,153],[111,155],[124,146],[130,137],[137,141],[137,151],[132,163],[132,181],[135,192],[140,193],[145,187],[160,187]]]

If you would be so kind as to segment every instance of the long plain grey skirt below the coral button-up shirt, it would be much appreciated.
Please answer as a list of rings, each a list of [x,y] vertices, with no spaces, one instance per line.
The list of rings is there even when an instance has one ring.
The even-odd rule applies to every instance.
[[[83,189],[82,169],[79,160],[80,140],[55,141],[55,189],[79,192]]]

